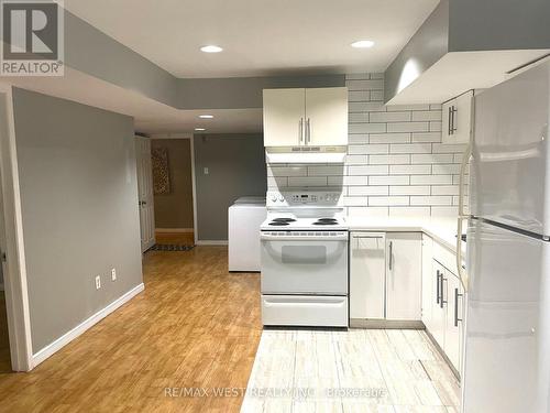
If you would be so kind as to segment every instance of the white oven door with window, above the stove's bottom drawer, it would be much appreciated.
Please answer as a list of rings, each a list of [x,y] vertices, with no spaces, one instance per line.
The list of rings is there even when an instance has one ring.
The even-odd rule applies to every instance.
[[[348,295],[348,235],[333,238],[263,236],[262,294]]]

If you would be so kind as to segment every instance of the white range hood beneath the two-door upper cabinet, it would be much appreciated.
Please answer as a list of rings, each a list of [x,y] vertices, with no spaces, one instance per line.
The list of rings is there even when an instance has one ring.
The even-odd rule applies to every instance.
[[[267,163],[344,163],[348,146],[267,146]]]

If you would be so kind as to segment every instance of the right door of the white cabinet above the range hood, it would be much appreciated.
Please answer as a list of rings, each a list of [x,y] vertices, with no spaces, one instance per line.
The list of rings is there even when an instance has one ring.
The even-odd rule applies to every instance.
[[[306,141],[320,146],[348,144],[348,88],[306,89]]]

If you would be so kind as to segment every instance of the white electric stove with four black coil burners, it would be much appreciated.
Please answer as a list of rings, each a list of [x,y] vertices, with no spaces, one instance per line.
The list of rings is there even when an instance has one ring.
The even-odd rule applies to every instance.
[[[266,326],[348,326],[348,227],[338,191],[267,192],[261,226]]]

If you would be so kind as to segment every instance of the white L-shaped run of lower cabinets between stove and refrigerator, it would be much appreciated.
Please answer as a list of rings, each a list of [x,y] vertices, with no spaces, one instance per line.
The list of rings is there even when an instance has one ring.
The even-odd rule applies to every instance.
[[[352,231],[351,325],[366,320],[366,326],[416,327],[421,320],[460,372],[464,292],[459,278],[441,262],[451,267],[453,252],[425,233]]]

